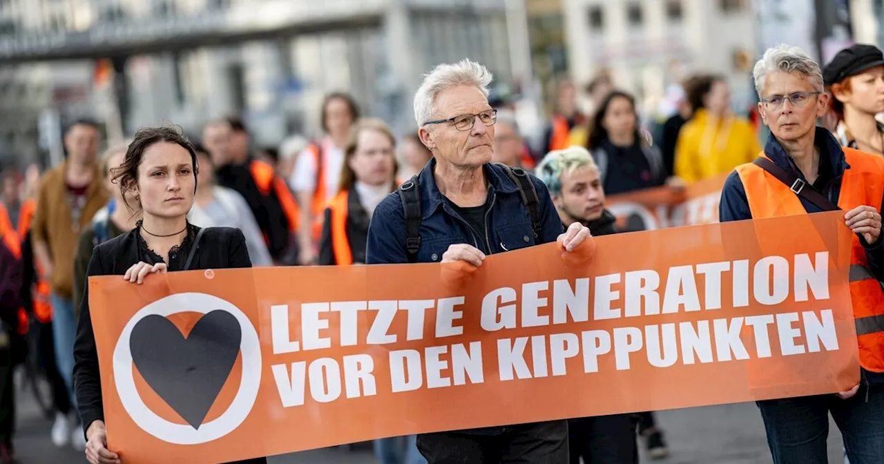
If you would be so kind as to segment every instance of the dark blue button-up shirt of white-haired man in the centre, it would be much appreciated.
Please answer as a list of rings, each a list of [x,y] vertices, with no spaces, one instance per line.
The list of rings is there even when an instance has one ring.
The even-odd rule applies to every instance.
[[[485,230],[473,232],[467,221],[457,214],[439,192],[433,171],[436,159],[431,159],[418,175],[421,193],[421,246],[417,262],[440,262],[449,246],[466,243],[479,248],[485,255],[493,255],[519,248],[553,242],[562,232],[559,214],[552,204],[546,186],[529,174],[540,200],[540,230],[537,240],[531,229],[531,217],[522,205],[518,187],[499,166],[485,164],[488,180],[488,212]],[[398,192],[393,192],[377,205],[369,226],[367,264],[408,262],[405,245],[405,215]]]

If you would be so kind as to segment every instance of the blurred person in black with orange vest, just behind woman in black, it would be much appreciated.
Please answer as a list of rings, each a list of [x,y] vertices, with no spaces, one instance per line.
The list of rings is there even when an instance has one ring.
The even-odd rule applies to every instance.
[[[202,144],[215,164],[217,184],[236,191],[248,203],[273,262],[293,264],[300,208],[273,166],[249,156],[243,123],[238,118],[210,122],[203,129]]]

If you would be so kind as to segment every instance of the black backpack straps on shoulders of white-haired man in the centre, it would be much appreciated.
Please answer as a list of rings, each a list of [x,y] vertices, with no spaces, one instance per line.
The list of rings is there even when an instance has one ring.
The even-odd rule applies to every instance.
[[[540,231],[540,200],[537,198],[534,183],[522,168],[511,168],[502,163],[495,164],[503,169],[507,173],[507,177],[518,187],[519,198],[525,209],[528,209],[528,214],[531,217],[531,230],[534,232],[534,241],[537,242],[537,234]],[[396,189],[402,201],[402,211],[405,214],[405,246],[408,251],[408,262],[417,262],[417,250],[421,247],[423,213],[419,186],[415,174]]]

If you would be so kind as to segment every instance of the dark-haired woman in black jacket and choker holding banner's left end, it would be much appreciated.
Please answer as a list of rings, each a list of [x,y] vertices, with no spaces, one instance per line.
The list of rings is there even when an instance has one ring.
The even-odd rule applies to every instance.
[[[123,164],[114,175],[121,196],[132,195],[126,206],[142,219],[93,250],[87,276],[119,275],[141,284],[149,274],[168,270],[248,268],[246,240],[239,229],[200,229],[187,222],[196,193],[196,153],[178,129],[142,128],[135,133]],[[192,263],[192,264],[191,264]],[[107,449],[101,375],[95,333],[89,313],[88,284],[80,303],[74,343],[73,377],[77,407],[83,423],[91,464],[125,462]],[[264,463],[265,458],[240,462]]]

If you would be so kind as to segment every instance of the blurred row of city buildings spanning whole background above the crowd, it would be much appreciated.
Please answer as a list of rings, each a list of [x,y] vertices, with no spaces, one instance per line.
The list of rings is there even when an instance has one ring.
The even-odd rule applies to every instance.
[[[556,80],[599,70],[645,113],[689,73],[718,72],[743,111],[761,50],[881,43],[882,14],[884,0],[0,0],[0,160],[56,162],[76,118],[112,141],[240,114],[275,145],[315,136],[333,90],[407,133],[422,74],[462,57],[495,73],[529,138]]]

